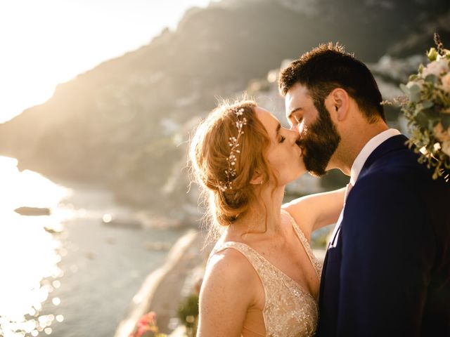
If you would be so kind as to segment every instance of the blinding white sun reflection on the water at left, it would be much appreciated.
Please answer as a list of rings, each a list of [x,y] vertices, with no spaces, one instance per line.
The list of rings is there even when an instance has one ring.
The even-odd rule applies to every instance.
[[[60,242],[51,232],[60,232],[68,214],[58,211],[58,204],[70,194],[38,173],[18,171],[16,165],[16,159],[0,157],[0,335],[5,337],[24,336],[24,331],[37,336],[49,329],[51,317],[39,316],[39,311],[62,276]],[[52,213],[20,216],[13,211],[20,206],[45,207]]]

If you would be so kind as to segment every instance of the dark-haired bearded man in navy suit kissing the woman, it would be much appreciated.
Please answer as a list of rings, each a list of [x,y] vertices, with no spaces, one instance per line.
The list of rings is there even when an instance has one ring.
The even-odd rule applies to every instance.
[[[308,171],[350,176],[316,336],[450,336],[450,184],[388,128],[373,75],[342,46],[305,53],[278,84]]]

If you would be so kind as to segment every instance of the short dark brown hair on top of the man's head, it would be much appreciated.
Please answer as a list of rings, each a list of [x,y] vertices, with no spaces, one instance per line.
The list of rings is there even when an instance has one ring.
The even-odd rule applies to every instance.
[[[373,74],[340,44],[321,44],[281,70],[278,78],[281,95],[285,96],[297,83],[306,86],[316,107],[323,106],[335,88],[343,88],[370,123],[380,117],[385,121],[380,104],[383,98]]]

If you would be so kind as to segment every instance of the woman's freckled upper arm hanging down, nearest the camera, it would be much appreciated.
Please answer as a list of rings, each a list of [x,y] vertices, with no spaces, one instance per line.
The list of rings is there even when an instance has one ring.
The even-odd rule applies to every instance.
[[[240,337],[253,292],[248,260],[234,249],[216,253],[200,290],[197,337]],[[255,272],[254,272],[255,273]]]

